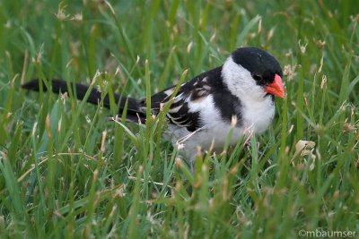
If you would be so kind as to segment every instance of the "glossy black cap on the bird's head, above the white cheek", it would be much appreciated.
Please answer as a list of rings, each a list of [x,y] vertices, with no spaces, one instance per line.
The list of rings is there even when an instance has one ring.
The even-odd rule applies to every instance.
[[[232,53],[232,60],[247,69],[258,85],[271,83],[276,74],[283,77],[282,68],[276,58],[259,48],[238,48]]]

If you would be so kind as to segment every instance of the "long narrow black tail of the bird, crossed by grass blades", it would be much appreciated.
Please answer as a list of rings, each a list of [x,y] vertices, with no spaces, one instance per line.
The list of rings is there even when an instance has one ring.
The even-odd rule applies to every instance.
[[[34,90],[39,91],[39,80],[32,80],[29,82],[26,82],[22,85],[23,89],[26,90]],[[42,82],[41,82],[42,83]],[[45,84],[42,83],[43,90],[47,91],[47,87]],[[77,99],[82,100],[87,92],[89,90],[89,87],[80,83],[71,83],[72,92],[74,93],[75,97]],[[52,80],[51,81],[51,90],[52,92],[58,94],[60,92],[68,92],[67,83],[63,80]],[[118,94],[115,94],[114,96],[115,102],[118,105],[118,115],[122,115],[123,109],[126,105],[127,101],[127,120],[138,122],[138,119],[143,120],[145,118],[145,115],[143,112],[139,109],[139,101],[136,98],[129,98],[129,97],[122,97]],[[98,90],[92,89],[89,95],[89,98],[87,98],[87,102],[98,105],[101,101],[101,92]],[[103,98],[103,106],[109,108],[109,96],[105,96]]]

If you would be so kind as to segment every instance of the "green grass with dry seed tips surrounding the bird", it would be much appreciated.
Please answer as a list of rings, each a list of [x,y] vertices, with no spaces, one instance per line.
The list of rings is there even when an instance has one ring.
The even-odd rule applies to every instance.
[[[357,1],[74,2],[0,2],[1,237],[358,236]],[[294,69],[287,97],[250,147],[198,159],[195,175],[162,140],[163,115],[115,124],[114,102],[20,88],[54,77],[148,97],[240,46]],[[302,155],[300,140],[316,146]]]

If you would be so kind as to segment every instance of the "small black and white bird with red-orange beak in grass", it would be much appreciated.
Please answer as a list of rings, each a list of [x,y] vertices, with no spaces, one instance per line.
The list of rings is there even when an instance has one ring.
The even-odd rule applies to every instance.
[[[232,129],[231,144],[246,133],[265,132],[275,115],[274,96],[284,98],[283,72],[275,57],[256,47],[236,49],[219,66],[201,73],[180,86],[172,99],[167,113],[168,132],[172,144],[180,144],[180,154],[191,164],[197,147],[223,149]],[[39,91],[39,81],[33,80],[22,88]],[[51,81],[54,93],[66,92],[66,81]],[[73,84],[76,98],[83,99],[88,86]],[[152,114],[159,114],[162,104],[167,103],[176,86],[162,90],[151,98]],[[46,90],[44,88],[44,90]],[[101,93],[92,90],[87,101],[98,104]],[[144,122],[146,101],[115,95],[118,115],[121,116],[127,101],[127,120]],[[119,101],[119,102],[118,102]],[[104,98],[109,107],[109,97]],[[233,122],[235,125],[232,125]]]

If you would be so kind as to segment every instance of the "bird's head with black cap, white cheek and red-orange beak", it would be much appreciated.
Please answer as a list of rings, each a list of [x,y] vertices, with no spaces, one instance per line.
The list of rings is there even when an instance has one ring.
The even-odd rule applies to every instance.
[[[283,71],[272,55],[256,47],[236,49],[223,64],[223,80],[229,90],[240,98],[285,96]]]

